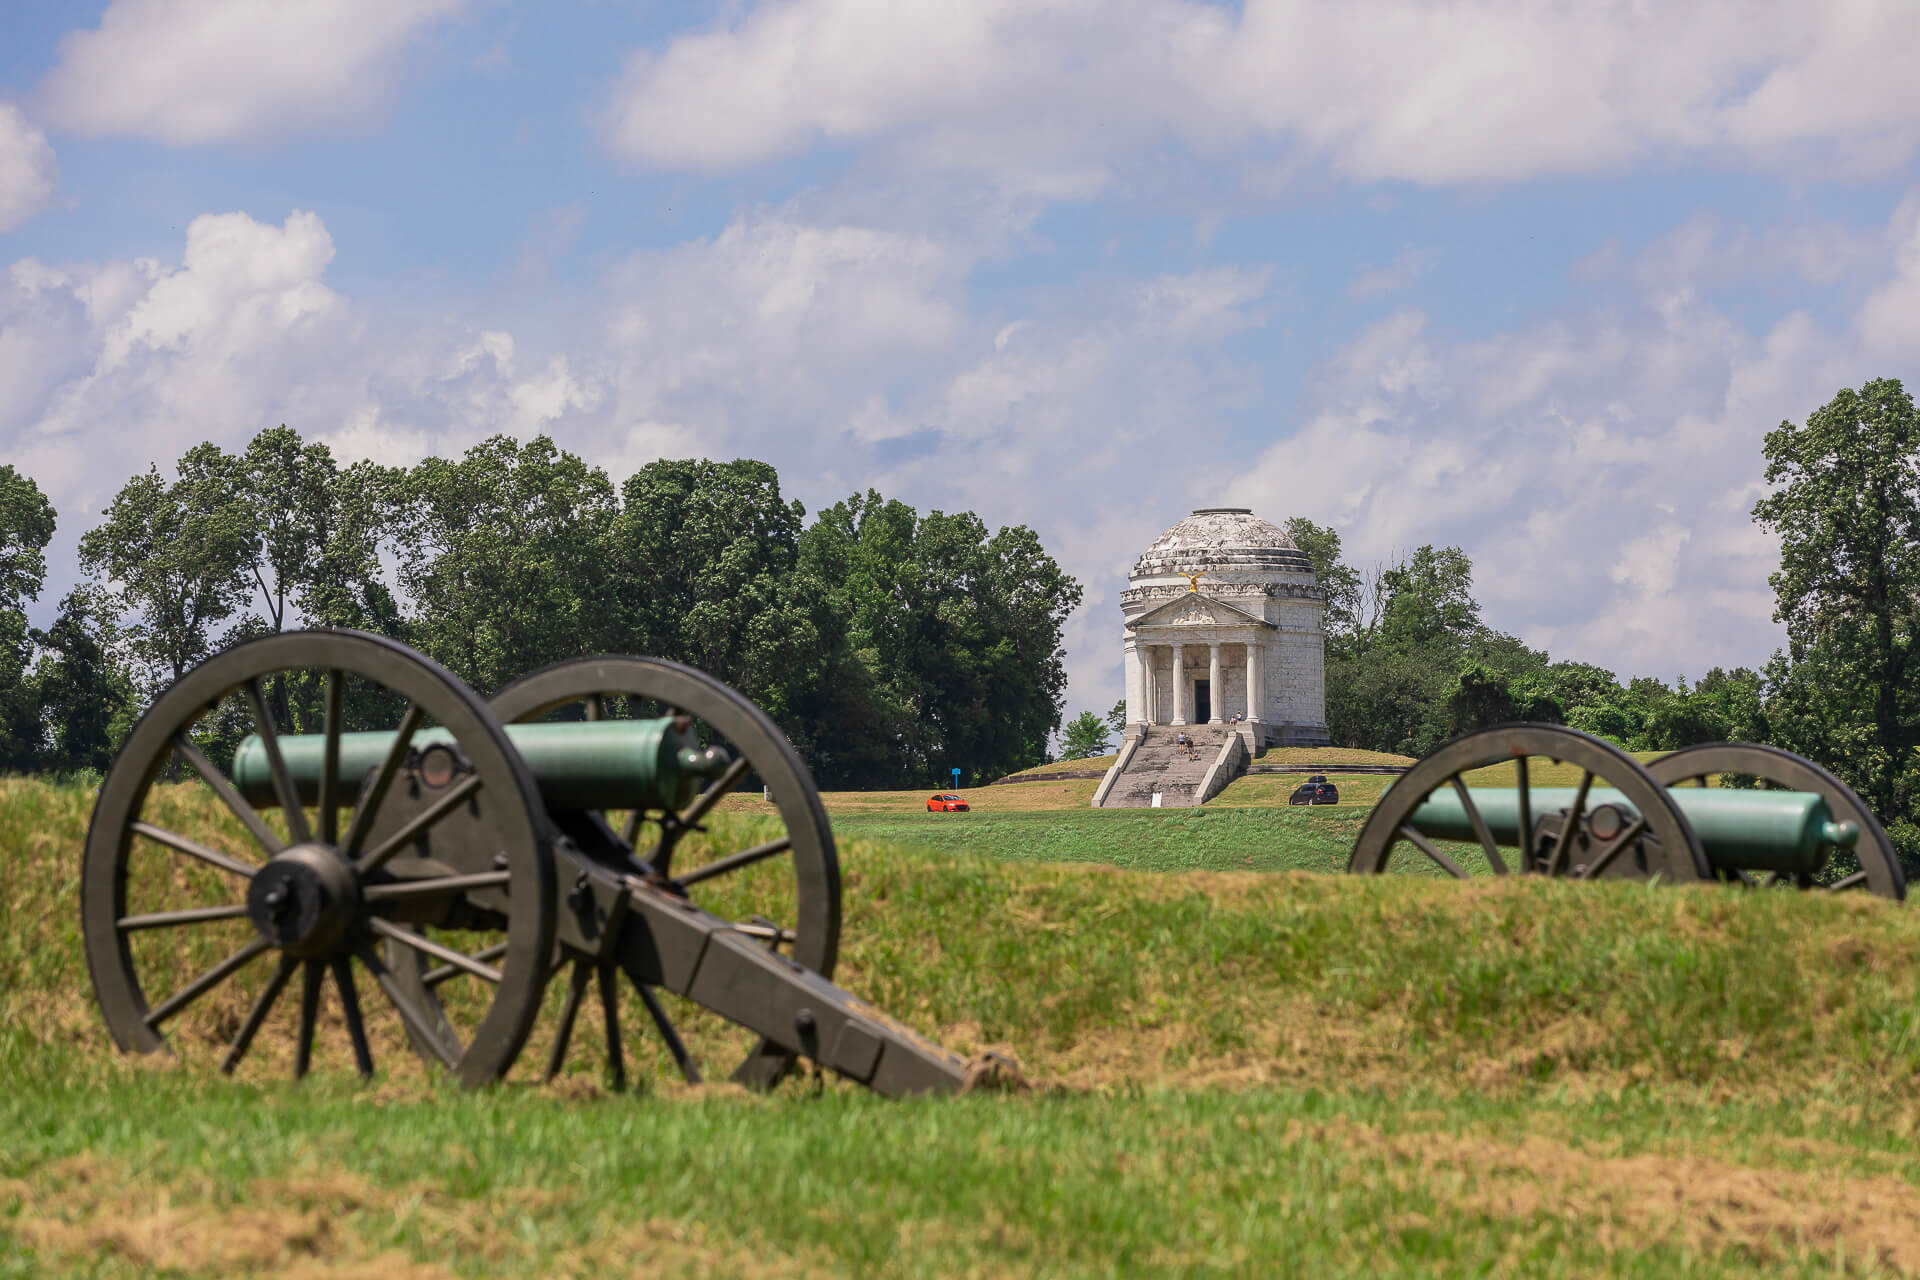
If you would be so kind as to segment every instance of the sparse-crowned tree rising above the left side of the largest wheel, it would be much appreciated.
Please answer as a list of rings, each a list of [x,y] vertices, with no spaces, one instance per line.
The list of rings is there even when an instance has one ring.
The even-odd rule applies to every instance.
[[[209,631],[252,591],[255,512],[234,461],[198,445],[167,484],[159,468],[134,476],[106,518],[81,537],[81,568],[108,585],[127,626],[127,643],[150,687],[179,679],[207,656]]]

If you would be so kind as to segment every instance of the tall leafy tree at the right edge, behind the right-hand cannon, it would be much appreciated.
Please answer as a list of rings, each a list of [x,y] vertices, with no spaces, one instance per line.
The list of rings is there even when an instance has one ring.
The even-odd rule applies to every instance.
[[[1774,741],[1839,773],[1920,865],[1920,413],[1895,378],[1766,434],[1753,520],[1780,535]]]

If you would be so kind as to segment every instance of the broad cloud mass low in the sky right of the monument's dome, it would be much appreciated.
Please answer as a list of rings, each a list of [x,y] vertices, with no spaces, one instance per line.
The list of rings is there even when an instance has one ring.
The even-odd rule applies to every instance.
[[[1417,311],[1371,326],[1233,499],[1334,524],[1357,562],[1461,545],[1488,620],[1561,658],[1663,677],[1763,662],[1780,631],[1778,549],[1749,516],[1761,439],[1843,386],[1910,378],[1920,200],[1880,236],[1878,284],[1839,328],[1788,311],[1749,334],[1701,301],[1726,265],[1676,251],[1690,236],[1626,265],[1628,309],[1484,342]]]

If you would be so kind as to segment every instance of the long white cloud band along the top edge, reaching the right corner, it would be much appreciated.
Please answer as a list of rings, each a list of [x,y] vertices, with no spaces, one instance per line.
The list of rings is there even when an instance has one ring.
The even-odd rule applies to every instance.
[[[1884,171],[1920,142],[1920,8],[1494,0],[770,0],[630,56],[603,127],[653,167],[822,142],[1083,194],[1164,140],[1357,180],[1605,173],[1684,150]]]

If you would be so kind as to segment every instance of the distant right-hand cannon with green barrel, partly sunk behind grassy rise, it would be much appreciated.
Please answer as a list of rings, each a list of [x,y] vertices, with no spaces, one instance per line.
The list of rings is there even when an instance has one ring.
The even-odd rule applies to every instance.
[[[1542,760],[1574,766],[1578,785],[1532,785]],[[1482,785],[1503,768],[1511,787]],[[1475,785],[1469,773],[1478,773]],[[1709,785],[1724,775],[1757,787]],[[1354,873],[1394,869],[1907,896],[1872,810],[1811,760],[1778,747],[1707,743],[1644,766],[1603,739],[1544,723],[1461,735],[1396,779],[1348,858]]]

